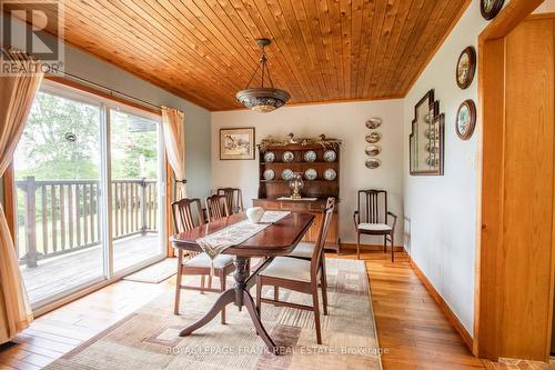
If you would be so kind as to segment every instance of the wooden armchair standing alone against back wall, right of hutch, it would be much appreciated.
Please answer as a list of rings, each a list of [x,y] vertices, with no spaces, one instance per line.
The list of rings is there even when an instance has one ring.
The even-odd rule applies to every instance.
[[[362,200],[362,202],[361,202]],[[356,258],[361,259],[361,234],[383,236],[383,251],[387,251],[387,241],[391,242],[391,261],[395,261],[394,236],[397,216],[387,210],[387,192],[385,190],[359,190],[357,209],[353,213],[356,229]],[[390,226],[387,219],[393,223]]]

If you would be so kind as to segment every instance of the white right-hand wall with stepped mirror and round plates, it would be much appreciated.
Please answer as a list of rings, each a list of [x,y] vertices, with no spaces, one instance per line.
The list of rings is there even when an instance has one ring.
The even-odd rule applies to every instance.
[[[508,1],[505,2],[505,7]],[[555,10],[545,1],[536,12]],[[466,99],[477,104],[477,71],[466,90],[455,81],[455,66],[467,46],[477,50],[478,36],[488,24],[473,0],[404,100],[404,136],[411,132],[414,104],[435,90],[445,113],[445,176],[408,174],[408,143],[404,143],[405,248],[466,330],[473,333],[476,242],[481,197],[480,121],[468,141],[455,133],[458,106]]]

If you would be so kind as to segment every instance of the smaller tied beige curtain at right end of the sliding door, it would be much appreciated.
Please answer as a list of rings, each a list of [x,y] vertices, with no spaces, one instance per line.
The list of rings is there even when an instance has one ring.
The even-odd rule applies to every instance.
[[[173,108],[162,107],[162,131],[164,133],[168,161],[175,176],[175,199],[186,197],[185,183],[185,114]]]

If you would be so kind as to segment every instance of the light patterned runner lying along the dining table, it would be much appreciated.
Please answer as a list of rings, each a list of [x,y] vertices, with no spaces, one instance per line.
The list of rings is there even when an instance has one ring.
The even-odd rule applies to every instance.
[[[204,238],[196,239],[196,243],[213,261],[225,249],[241,244],[246,239],[261,232],[274,222],[278,222],[291,212],[287,211],[265,211],[259,223],[251,223],[249,220],[243,220],[238,223],[211,233]]]

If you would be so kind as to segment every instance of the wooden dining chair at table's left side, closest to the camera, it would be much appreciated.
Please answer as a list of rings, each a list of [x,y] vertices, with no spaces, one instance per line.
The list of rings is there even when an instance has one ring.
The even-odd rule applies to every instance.
[[[189,231],[195,228],[196,224],[203,226],[205,223],[200,199],[184,198],[174,201],[171,206],[173,226],[176,233]],[[220,278],[220,289],[212,288],[212,263],[214,273]],[[183,260],[183,250],[178,248],[178,281],[175,283],[175,306],[173,312],[179,314],[182,289],[199,290],[201,293],[205,291],[223,292],[225,290],[225,278],[234,270],[232,256],[219,254],[214,260],[211,260],[204,252],[191,252],[191,259]],[[183,276],[201,276],[201,286],[183,286],[181,283]],[[209,287],[204,287],[206,276],[209,277]],[[222,310],[222,323],[225,323],[225,309]]]

